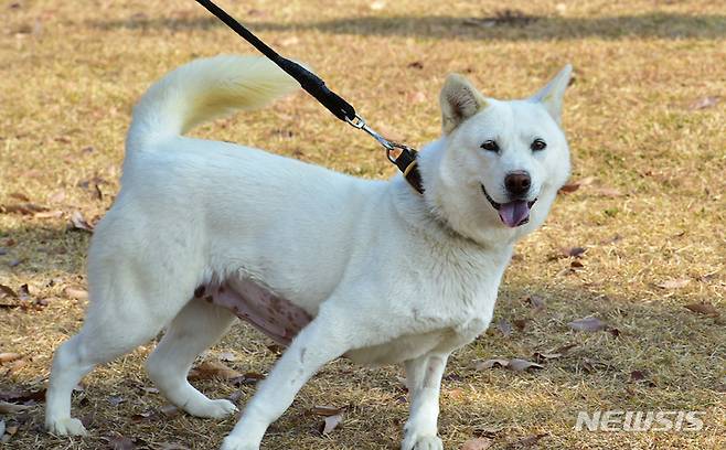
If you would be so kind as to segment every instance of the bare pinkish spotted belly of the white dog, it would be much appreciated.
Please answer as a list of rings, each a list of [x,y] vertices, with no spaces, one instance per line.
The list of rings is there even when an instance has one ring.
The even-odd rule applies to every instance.
[[[302,308],[249,280],[200,286],[194,297],[232,310],[282,345],[312,320]]]

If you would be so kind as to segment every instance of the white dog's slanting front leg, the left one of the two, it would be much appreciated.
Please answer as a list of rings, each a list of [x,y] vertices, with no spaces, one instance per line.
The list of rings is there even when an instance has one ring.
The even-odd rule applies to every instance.
[[[247,403],[222,450],[257,450],[267,427],[292,404],[302,385],[325,363],[345,353],[350,328],[341,314],[320,314],[295,338]]]

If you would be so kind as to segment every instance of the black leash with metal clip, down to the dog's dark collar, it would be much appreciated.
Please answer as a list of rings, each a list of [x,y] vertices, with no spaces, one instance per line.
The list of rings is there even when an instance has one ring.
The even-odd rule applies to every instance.
[[[212,14],[229,26],[234,32],[244,38],[245,41],[253,44],[271,62],[277,64],[282,71],[287,72],[292,78],[300,83],[300,86],[313,96],[322,106],[328,108],[333,116],[340,120],[346,121],[354,128],[361,129],[371,135],[381,146],[386,149],[386,158],[394,163],[404,174],[408,184],[412,185],[419,194],[424,193],[421,176],[418,172],[416,161],[416,150],[403,143],[393,142],[375,132],[367,126],[365,120],[355,114],[353,105],[345,101],[341,96],[333,93],[325,86],[325,82],[320,79],[316,74],[302,67],[300,64],[280,56],[277,52],[260,41],[242,23],[237,22],[232,15],[227,14],[222,8],[217,7],[210,0],[196,0],[197,3],[206,8]]]

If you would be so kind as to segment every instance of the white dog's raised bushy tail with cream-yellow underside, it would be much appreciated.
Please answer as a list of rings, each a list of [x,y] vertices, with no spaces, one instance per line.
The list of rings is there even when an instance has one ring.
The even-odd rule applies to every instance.
[[[134,108],[127,150],[180,136],[238,109],[257,109],[299,88],[275,63],[221,55],[188,63],[158,81]]]

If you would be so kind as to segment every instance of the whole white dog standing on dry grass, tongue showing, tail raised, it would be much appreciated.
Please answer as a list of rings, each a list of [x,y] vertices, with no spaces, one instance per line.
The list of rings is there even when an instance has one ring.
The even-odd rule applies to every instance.
[[[159,390],[193,416],[233,413],[186,373],[239,315],[289,347],[222,449],[258,449],[300,387],[343,355],[403,363],[412,408],[402,449],[441,449],[447,358],[487,329],[514,243],[567,180],[569,76],[566,66],[533,97],[500,101],[450,75],[442,136],[418,156],[421,195],[401,175],[366,181],[181,136],[298,87],[267,60],[218,56],[167,75],[135,109],[122,188],[90,246],[85,323],[53,361],[47,429],[84,435],[73,387],[164,326],[147,365]]]

